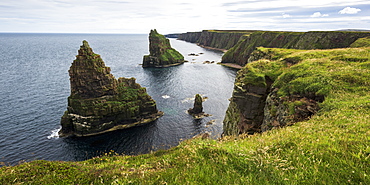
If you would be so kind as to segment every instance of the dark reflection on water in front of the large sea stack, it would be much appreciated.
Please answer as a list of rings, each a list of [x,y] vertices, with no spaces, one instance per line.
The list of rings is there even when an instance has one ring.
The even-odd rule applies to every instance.
[[[148,153],[154,149],[153,133],[156,132],[157,122],[116,130],[96,136],[61,138],[66,144],[66,150],[74,151],[74,160],[86,160],[103,155],[110,151],[118,154],[137,155]],[[147,146],[147,147],[146,147]]]

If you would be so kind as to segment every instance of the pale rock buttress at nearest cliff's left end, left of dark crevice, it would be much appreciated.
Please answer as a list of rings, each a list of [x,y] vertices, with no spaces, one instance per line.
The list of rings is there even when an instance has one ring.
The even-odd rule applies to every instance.
[[[261,132],[272,80],[246,66],[238,72],[224,119],[224,135]]]

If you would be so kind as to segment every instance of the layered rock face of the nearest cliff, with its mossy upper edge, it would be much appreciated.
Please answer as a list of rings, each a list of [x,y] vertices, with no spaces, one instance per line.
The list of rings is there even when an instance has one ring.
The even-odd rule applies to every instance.
[[[238,71],[235,79],[223,122],[224,135],[264,132],[307,120],[316,114],[318,103],[323,102],[330,91],[330,84],[323,83],[323,77],[314,70],[301,71],[310,65],[294,66],[304,57],[314,59],[325,54],[318,55],[314,50],[312,54],[301,51],[299,55],[290,55],[298,52],[259,48],[251,54],[256,61]]]

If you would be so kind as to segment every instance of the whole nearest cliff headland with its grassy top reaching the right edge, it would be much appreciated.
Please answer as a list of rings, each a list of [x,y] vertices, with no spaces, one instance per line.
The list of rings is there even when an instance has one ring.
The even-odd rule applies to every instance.
[[[331,93],[369,85],[361,72],[368,69],[369,51],[257,48],[237,74],[224,135],[253,134],[307,120]]]

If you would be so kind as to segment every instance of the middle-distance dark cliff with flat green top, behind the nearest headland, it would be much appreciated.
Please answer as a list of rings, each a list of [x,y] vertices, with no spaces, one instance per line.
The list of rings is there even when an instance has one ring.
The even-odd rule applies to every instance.
[[[243,36],[222,57],[222,63],[244,66],[256,47],[286,49],[333,49],[349,47],[370,32],[254,32]]]

